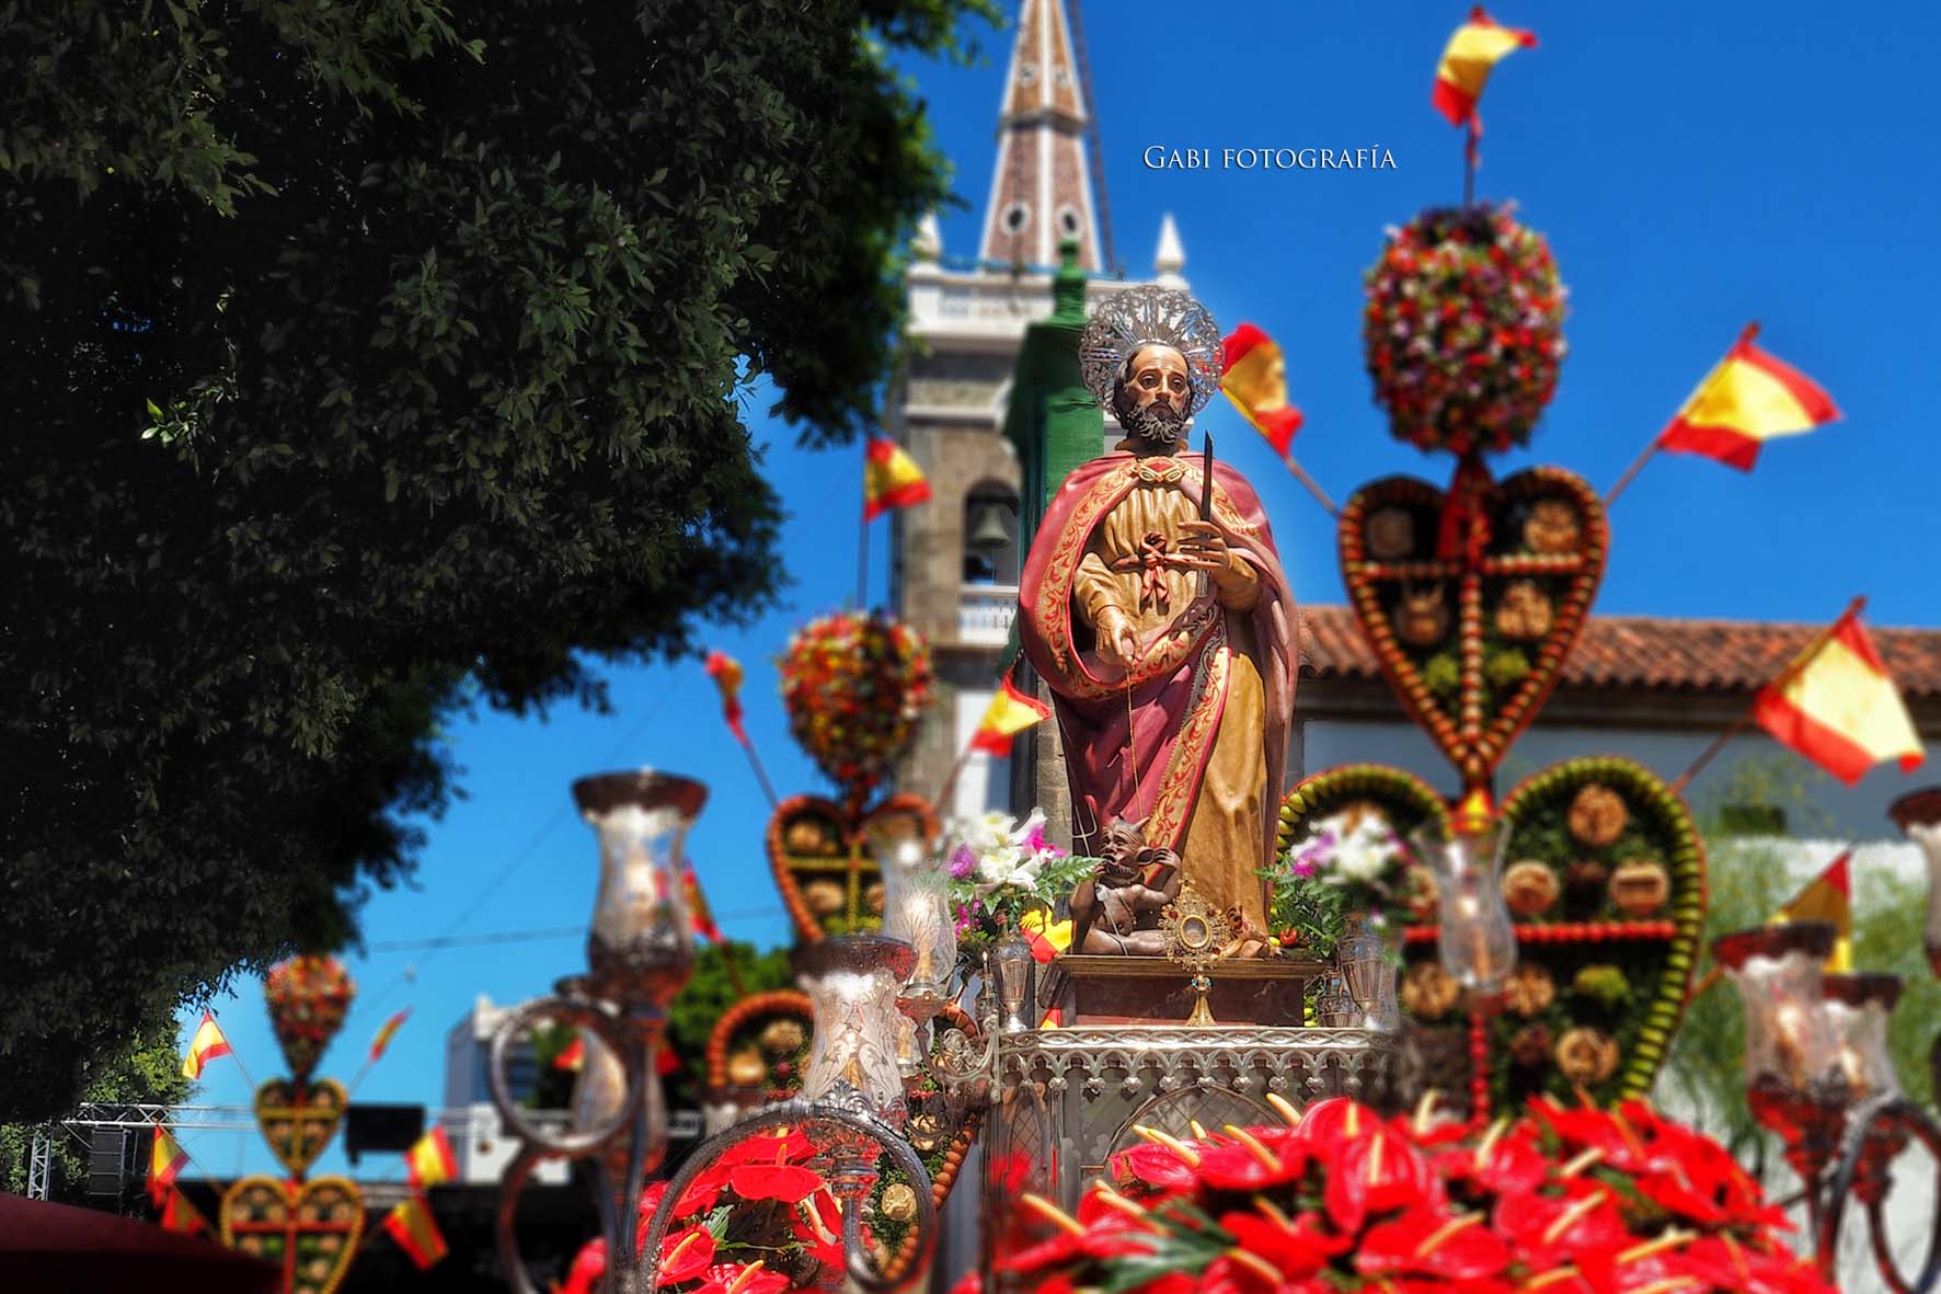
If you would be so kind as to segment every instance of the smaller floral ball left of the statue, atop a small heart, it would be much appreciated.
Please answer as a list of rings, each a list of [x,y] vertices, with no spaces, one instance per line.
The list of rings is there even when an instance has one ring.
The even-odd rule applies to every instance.
[[[881,612],[835,612],[798,630],[780,666],[796,740],[844,797],[870,799],[930,703],[924,635]]]

